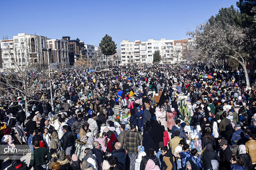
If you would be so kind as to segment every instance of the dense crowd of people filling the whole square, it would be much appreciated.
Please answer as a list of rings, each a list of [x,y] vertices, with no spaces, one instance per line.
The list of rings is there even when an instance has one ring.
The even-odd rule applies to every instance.
[[[47,83],[36,86],[28,112],[22,94],[5,91],[2,146],[29,146],[33,155],[29,165],[10,158],[8,169],[255,168],[255,88],[243,70],[110,70],[52,72],[54,111]]]

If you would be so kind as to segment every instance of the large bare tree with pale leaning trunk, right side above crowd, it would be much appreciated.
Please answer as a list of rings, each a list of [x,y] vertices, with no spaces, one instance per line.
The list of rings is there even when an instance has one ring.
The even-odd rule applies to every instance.
[[[213,24],[206,22],[198,25],[194,31],[189,31],[187,34],[194,38],[199,56],[211,61],[231,58],[241,64],[245,72],[246,86],[250,86],[245,65],[249,54],[244,50],[246,35],[242,28],[229,24],[223,28],[218,22]]]

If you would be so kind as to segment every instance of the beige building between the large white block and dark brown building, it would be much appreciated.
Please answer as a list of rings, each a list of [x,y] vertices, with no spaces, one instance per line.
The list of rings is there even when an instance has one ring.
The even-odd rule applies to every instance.
[[[50,60],[55,67],[69,65],[68,41],[64,39],[47,39],[47,48],[51,48]]]

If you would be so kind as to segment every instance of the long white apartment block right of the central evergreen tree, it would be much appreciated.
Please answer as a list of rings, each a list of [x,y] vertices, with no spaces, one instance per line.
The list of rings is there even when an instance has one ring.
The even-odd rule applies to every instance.
[[[161,40],[148,39],[147,41],[123,40],[121,42],[121,61],[122,65],[129,64],[152,64],[153,54],[159,50],[164,64],[174,64],[185,62],[182,57],[182,49],[188,46],[191,39],[183,38],[182,40]]]

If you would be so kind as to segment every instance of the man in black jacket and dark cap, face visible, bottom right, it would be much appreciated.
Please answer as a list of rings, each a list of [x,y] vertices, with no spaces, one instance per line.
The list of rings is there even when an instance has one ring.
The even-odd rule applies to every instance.
[[[228,145],[228,141],[223,139],[220,142],[220,168],[221,170],[231,169],[230,160],[232,157],[232,151]]]

